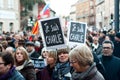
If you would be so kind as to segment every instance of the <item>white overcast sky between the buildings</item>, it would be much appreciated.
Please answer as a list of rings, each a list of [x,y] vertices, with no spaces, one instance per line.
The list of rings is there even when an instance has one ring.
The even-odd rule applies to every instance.
[[[70,7],[77,0],[50,0],[50,8],[52,8],[57,15],[68,15]]]

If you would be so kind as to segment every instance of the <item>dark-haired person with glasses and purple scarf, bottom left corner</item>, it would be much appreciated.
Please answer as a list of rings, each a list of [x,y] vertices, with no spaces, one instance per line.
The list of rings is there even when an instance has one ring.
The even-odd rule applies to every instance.
[[[25,80],[15,69],[13,55],[9,52],[0,52],[0,80]]]

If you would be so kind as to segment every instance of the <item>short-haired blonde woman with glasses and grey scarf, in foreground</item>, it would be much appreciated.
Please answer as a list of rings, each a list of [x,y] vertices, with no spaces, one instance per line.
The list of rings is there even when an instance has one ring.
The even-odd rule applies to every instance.
[[[69,53],[70,66],[73,67],[72,80],[105,80],[97,70],[92,51],[81,44]]]

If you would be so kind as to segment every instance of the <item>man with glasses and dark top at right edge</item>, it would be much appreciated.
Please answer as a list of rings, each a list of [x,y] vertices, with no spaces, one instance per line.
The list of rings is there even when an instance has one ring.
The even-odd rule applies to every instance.
[[[105,68],[105,80],[120,80],[120,58],[113,55],[114,44],[110,40],[102,43],[100,59]]]

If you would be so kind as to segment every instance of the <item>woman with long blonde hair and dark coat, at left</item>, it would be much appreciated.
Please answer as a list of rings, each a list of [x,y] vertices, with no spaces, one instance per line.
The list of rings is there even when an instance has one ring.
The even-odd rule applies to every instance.
[[[18,47],[14,54],[16,69],[26,80],[36,80],[36,72],[28,52],[24,47]]]

